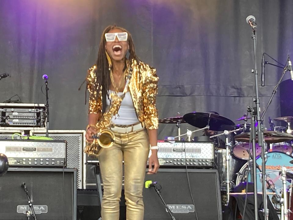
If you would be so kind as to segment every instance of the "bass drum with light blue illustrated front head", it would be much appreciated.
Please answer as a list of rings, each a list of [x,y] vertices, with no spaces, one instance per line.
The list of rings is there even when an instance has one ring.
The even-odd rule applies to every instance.
[[[266,171],[273,171],[275,172],[267,173],[266,179],[269,181],[269,183],[272,185],[273,188],[275,188],[276,193],[281,196],[281,189],[283,189],[282,181],[280,180],[280,174],[279,170],[281,167],[286,167],[287,169],[293,168],[293,164],[290,163],[290,161],[293,159],[293,157],[282,153],[282,152],[269,152],[267,154],[268,158],[266,161]],[[250,161],[251,167],[252,167],[252,160]],[[256,160],[256,163],[259,165],[259,167],[262,167],[262,158],[259,157]],[[259,172],[259,170],[257,170]],[[293,171],[288,171],[293,172]],[[236,179],[236,185],[239,185],[241,182],[245,182],[248,179],[248,182],[251,182],[251,175],[248,176],[248,162],[244,164],[243,167],[238,172],[237,179]],[[257,174],[256,175],[256,181],[257,181],[257,191],[262,192],[262,175]],[[268,184],[267,188],[269,188]],[[290,186],[290,183],[287,182],[287,187]],[[267,189],[267,192],[273,192],[272,189]],[[272,195],[268,195],[270,200],[272,199]],[[280,208],[279,205],[277,205],[277,208]]]

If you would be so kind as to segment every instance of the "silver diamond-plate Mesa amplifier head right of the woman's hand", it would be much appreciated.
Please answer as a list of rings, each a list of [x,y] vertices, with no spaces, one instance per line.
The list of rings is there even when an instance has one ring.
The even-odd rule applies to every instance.
[[[157,143],[160,166],[206,167],[214,165],[214,143],[190,141],[163,141]],[[151,151],[149,157],[151,155]]]

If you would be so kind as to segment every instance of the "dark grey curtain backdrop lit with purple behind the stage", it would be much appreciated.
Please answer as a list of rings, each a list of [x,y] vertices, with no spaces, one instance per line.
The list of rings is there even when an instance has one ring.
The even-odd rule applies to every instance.
[[[0,81],[0,101],[18,94],[24,103],[45,103],[47,74],[50,129],[85,129],[85,85],[78,87],[96,61],[103,29],[115,23],[132,33],[138,56],[157,69],[159,118],[216,111],[235,120],[252,96],[253,46],[245,18],[254,15],[258,25],[260,84],[263,52],[281,63],[288,52],[293,59],[292,8],[290,0],[1,0],[0,73],[11,78]],[[281,72],[266,66],[262,109]],[[279,93],[267,126],[269,116],[280,116]],[[182,133],[186,128],[195,129],[184,124]],[[175,125],[160,124],[159,139],[176,134]]]

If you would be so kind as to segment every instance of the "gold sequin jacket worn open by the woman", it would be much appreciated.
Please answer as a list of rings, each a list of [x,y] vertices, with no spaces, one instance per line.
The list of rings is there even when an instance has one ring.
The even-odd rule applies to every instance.
[[[126,61],[132,67],[132,77],[128,88],[132,97],[136,115],[147,129],[158,128],[158,111],[156,108],[157,83],[159,77],[156,69],[136,60]],[[87,75],[87,88],[89,90],[89,113],[102,112],[102,86],[96,82],[96,65],[89,68]],[[98,91],[98,88],[99,91]]]

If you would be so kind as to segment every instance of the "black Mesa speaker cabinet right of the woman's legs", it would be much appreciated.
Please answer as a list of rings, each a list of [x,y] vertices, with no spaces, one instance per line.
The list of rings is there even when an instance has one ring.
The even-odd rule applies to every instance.
[[[222,220],[219,174],[217,170],[188,169],[191,194],[200,220]],[[145,181],[161,185],[161,196],[176,220],[196,219],[186,169],[159,169],[146,174]],[[160,188],[158,186],[158,188]],[[171,219],[153,187],[143,189],[144,220]]]

